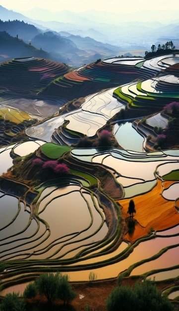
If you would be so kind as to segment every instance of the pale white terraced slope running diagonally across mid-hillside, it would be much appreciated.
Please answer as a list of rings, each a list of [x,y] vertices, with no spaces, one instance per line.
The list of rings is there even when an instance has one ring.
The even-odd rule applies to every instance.
[[[57,129],[64,121],[68,121],[68,130],[82,133],[92,137],[124,106],[113,97],[115,88],[102,91],[98,94],[87,96],[81,108],[62,116],[52,118],[44,123],[26,130],[26,134],[32,138],[38,138],[60,145],[71,145],[79,140],[69,134],[65,128]]]

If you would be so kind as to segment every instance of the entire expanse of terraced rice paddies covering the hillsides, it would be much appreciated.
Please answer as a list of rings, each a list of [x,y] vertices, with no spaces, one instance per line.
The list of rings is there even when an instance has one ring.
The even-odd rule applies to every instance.
[[[35,60],[24,62],[31,61]],[[158,109],[146,117],[146,124],[151,131],[155,126],[166,128],[168,118],[161,108],[178,100],[178,64],[179,57],[173,54],[147,61],[114,58],[57,77],[40,91],[41,95],[50,89],[56,90],[55,94],[61,88],[69,92],[74,85],[84,86],[87,81],[105,80],[112,86],[116,80],[114,83],[119,84],[86,96],[75,111],[26,129],[32,141],[0,150],[1,173],[12,165],[12,152],[23,158],[33,152],[43,160],[68,154],[64,158],[71,165],[69,175],[55,179],[50,175],[48,181],[36,186],[33,198],[28,185],[19,196],[13,193],[13,187],[8,193],[1,186],[0,259],[6,264],[4,284],[18,271],[28,275],[48,269],[67,272],[71,281],[88,280],[91,271],[98,279],[119,274],[165,279],[178,274],[179,150],[146,152],[148,128],[141,130],[136,120],[122,120],[123,125],[119,120],[114,126],[120,149],[71,147],[83,136],[94,137],[126,105],[132,109],[149,105],[151,111]],[[46,74],[47,68],[46,64],[29,70]],[[125,77],[133,80],[136,76],[136,81],[125,81]],[[62,127],[64,122],[66,126]],[[101,168],[98,177],[94,167]],[[107,181],[103,180],[102,168],[108,172]],[[133,219],[127,213],[131,198],[136,209]],[[177,288],[175,292],[176,297]]]

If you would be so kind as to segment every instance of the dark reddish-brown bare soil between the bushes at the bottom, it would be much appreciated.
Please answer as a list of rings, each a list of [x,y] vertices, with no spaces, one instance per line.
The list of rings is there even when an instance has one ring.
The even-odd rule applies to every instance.
[[[134,286],[135,282],[140,281],[140,278],[130,278],[126,277],[122,280],[122,286]],[[157,288],[161,291],[167,287],[177,285],[178,282],[172,280],[157,282]],[[27,311],[84,311],[85,306],[90,307],[90,311],[107,311],[106,308],[106,299],[111,294],[112,290],[117,287],[117,279],[94,281],[94,282],[81,282],[81,283],[72,283],[72,288],[76,292],[76,298],[69,306],[69,309],[62,306],[60,301],[56,301],[52,305],[47,304],[47,300],[42,297],[39,298],[38,303],[28,304]],[[82,296],[81,296],[82,295]],[[80,299],[81,297],[81,299]],[[83,298],[82,298],[83,297]],[[64,309],[63,309],[64,308]],[[176,302],[175,310],[179,310],[179,303]]]

